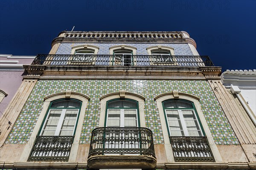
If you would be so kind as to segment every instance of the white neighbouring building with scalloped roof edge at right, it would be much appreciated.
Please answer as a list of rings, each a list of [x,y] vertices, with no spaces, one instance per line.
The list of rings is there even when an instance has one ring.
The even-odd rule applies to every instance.
[[[237,96],[256,125],[256,69],[227,70],[221,74],[221,81]]]

